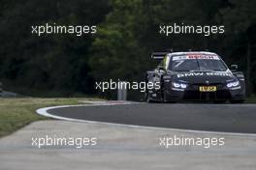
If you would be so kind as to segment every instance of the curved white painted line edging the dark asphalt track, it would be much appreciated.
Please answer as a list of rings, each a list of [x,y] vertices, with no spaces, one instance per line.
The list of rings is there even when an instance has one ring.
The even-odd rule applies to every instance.
[[[61,106],[52,106],[45,107],[36,110],[36,113],[42,116],[46,116],[48,118],[71,121],[71,122],[80,122],[80,123],[89,123],[89,124],[99,124],[99,125],[110,125],[116,127],[124,127],[124,128],[146,128],[146,129],[154,129],[154,130],[171,130],[171,131],[180,131],[180,132],[192,132],[192,133],[207,133],[207,134],[216,134],[216,135],[237,135],[237,136],[246,136],[246,137],[256,137],[255,133],[240,133],[240,132],[222,132],[222,131],[206,131],[206,130],[195,130],[195,129],[182,129],[182,128],[158,128],[158,127],[147,127],[147,126],[136,126],[136,125],[126,125],[126,124],[117,124],[117,123],[107,123],[100,121],[86,121],[81,119],[74,118],[66,118],[62,116],[56,116],[48,113],[49,109],[55,108],[65,108],[65,107],[80,107],[80,106],[105,106],[105,105],[122,105],[122,104],[136,104],[140,102],[123,102],[123,103],[111,103],[107,101],[90,101],[91,104],[77,104],[77,105],[61,105]]]

